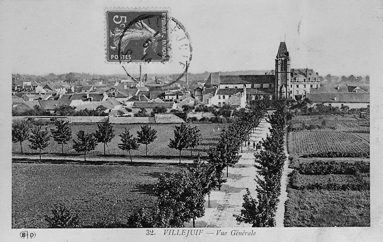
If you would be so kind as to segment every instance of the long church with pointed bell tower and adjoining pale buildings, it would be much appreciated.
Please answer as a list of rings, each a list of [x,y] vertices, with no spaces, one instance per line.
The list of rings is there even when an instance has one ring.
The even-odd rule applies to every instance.
[[[319,88],[318,72],[313,69],[291,68],[291,57],[286,42],[280,42],[275,58],[275,70],[264,75],[219,75],[210,73],[201,90],[201,101],[206,105],[231,105],[230,98],[246,101],[270,99],[301,99],[311,88]],[[244,107],[243,100],[233,106]]]

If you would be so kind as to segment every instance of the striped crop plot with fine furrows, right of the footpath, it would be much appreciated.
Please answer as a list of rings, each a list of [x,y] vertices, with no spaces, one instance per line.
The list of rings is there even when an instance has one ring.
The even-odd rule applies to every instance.
[[[289,153],[294,156],[324,152],[370,154],[370,135],[343,131],[290,132]]]

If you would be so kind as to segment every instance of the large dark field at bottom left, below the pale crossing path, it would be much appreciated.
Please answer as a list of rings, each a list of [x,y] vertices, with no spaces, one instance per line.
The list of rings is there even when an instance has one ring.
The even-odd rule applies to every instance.
[[[140,206],[155,204],[153,187],[163,172],[178,172],[177,165],[65,165],[12,164],[12,228],[46,228],[57,202],[75,209],[82,226],[112,223],[115,198],[117,220]]]

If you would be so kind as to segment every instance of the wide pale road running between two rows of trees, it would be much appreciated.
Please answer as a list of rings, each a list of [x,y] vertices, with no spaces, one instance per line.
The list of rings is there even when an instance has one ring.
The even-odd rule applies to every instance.
[[[252,143],[266,138],[269,133],[270,124],[262,119],[256,131],[251,135],[250,148],[243,148],[242,156],[234,167],[229,167],[229,176],[224,178],[227,182],[222,186],[220,191],[212,191],[210,195],[210,205],[207,207],[205,203],[205,216],[196,220],[195,227],[251,227],[250,224],[238,224],[233,214],[240,214],[243,203],[243,195],[246,188],[249,188],[252,196],[256,196],[254,181],[256,177],[256,168],[254,167],[254,152]],[[207,201],[207,197],[206,197]],[[192,223],[186,224],[186,227],[192,227]]]

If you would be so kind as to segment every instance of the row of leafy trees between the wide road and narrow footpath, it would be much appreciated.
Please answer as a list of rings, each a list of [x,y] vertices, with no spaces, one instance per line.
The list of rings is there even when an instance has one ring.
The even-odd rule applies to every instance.
[[[277,103],[276,111],[270,117],[270,136],[262,140],[264,150],[255,154],[257,168],[256,198],[249,189],[243,196],[243,209],[240,215],[234,215],[240,223],[252,224],[252,227],[275,227],[275,215],[281,193],[281,177],[284,153],[286,105]]]

